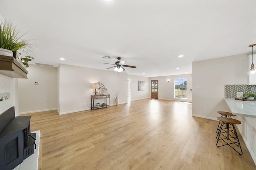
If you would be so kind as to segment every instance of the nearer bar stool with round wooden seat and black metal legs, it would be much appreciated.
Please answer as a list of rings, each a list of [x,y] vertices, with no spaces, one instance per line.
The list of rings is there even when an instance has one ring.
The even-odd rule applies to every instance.
[[[236,133],[236,128],[234,125],[239,125],[241,124],[241,121],[236,120],[236,119],[230,119],[228,117],[217,117],[217,119],[219,121],[221,121],[221,125],[220,125],[220,129],[218,131],[217,134],[217,143],[216,143],[216,147],[222,147],[225,145],[229,145],[232,149],[234,149],[234,147],[231,146],[231,144],[235,144],[237,147],[240,147],[241,152],[238,152],[236,149],[236,152],[238,152],[239,155],[243,154],[239,139],[238,139],[238,135]],[[224,124],[226,124],[226,127],[224,127]],[[234,133],[230,133],[230,126],[233,127]],[[218,145],[219,140],[224,141],[224,145]]]

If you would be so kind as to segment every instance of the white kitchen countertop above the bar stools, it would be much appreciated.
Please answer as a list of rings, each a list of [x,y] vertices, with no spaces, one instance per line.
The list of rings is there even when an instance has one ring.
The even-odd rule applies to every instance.
[[[225,98],[225,101],[234,115],[256,118],[256,102]]]

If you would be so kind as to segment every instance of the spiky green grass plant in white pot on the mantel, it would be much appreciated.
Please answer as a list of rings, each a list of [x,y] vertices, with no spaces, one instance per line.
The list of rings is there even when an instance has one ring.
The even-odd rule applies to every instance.
[[[20,30],[16,29],[16,26],[11,22],[5,21],[0,25],[0,48],[10,51],[17,51],[19,49],[31,51],[33,44],[28,42],[28,40],[22,39],[25,34],[20,35]]]

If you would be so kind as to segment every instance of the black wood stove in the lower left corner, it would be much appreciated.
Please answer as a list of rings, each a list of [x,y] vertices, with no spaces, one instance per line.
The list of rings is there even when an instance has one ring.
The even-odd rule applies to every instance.
[[[15,117],[14,107],[0,115],[0,170],[12,170],[34,153],[36,134],[31,116]]]

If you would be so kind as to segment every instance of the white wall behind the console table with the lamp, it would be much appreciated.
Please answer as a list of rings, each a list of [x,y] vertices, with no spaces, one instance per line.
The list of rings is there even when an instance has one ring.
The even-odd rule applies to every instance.
[[[91,107],[92,84],[101,82],[110,94],[110,106],[115,105],[113,90],[119,90],[119,104],[127,103],[127,73],[98,70],[60,64],[59,66],[59,108],[60,114],[83,111]],[[87,100],[87,103],[86,103]],[[97,100],[100,103],[104,99]],[[106,102],[105,102],[106,103]],[[88,105],[87,105],[88,104]]]

